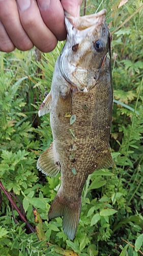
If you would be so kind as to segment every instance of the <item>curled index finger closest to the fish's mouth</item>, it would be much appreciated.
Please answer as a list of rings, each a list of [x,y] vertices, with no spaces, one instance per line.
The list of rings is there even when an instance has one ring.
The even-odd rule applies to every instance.
[[[37,3],[46,26],[58,40],[66,39],[67,33],[64,24],[64,10],[60,1],[38,0]]]

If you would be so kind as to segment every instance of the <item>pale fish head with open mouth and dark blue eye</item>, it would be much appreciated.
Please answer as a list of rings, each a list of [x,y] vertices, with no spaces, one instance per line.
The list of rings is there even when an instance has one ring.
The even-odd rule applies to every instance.
[[[89,92],[103,72],[109,69],[111,35],[105,14],[105,9],[82,17],[65,13],[67,39],[59,68],[75,91]]]

